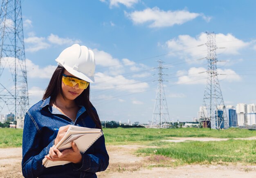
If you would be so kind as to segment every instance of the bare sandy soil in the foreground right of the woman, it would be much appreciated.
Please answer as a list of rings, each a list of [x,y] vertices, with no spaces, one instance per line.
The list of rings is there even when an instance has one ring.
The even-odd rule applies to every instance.
[[[110,165],[106,171],[97,173],[97,176],[99,178],[256,178],[256,166],[251,165],[216,163],[216,165],[165,167],[165,164],[169,165],[175,160],[159,155],[135,156],[133,153],[142,147],[144,146],[107,146]],[[161,165],[162,167],[156,167]]]

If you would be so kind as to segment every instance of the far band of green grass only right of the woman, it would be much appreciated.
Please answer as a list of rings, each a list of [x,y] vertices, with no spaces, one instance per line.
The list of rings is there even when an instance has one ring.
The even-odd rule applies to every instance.
[[[256,136],[256,131],[230,128],[226,130],[179,128],[179,129],[146,129],[116,128],[103,129],[106,142],[115,145],[144,144],[145,142],[167,140],[170,137],[213,137],[213,138],[247,138]]]

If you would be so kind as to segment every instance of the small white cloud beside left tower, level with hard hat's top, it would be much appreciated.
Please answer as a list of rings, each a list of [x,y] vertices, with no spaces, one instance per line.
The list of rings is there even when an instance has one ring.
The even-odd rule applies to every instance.
[[[48,44],[44,37],[28,37],[24,39],[24,42],[27,43],[27,47],[25,48],[26,51],[29,52],[36,52],[40,49],[47,49],[50,47],[50,44]]]

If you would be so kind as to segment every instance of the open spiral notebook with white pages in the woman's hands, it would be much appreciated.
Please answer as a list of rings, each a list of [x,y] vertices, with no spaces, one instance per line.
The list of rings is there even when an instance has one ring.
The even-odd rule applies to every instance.
[[[103,135],[101,129],[92,129],[87,127],[79,127],[70,125],[67,129],[65,136],[58,142],[55,148],[59,151],[69,149],[72,147],[71,142],[74,141],[83,154],[100,136]],[[49,156],[49,154],[48,154]],[[43,165],[45,167],[52,167],[57,165],[65,165],[70,163],[69,161],[51,161],[47,158],[43,159]]]

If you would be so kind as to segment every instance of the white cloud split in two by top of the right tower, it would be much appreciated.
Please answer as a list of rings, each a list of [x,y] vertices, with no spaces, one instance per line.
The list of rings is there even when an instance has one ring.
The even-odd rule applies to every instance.
[[[201,33],[195,38],[189,35],[180,35],[178,38],[173,38],[166,41],[165,46],[170,50],[171,55],[178,55],[187,61],[204,58],[207,56],[207,34]],[[239,50],[249,45],[248,42],[243,42],[232,34],[227,35],[216,34],[216,46],[218,48],[225,47],[225,49],[217,49],[217,56],[219,53],[236,55]]]

